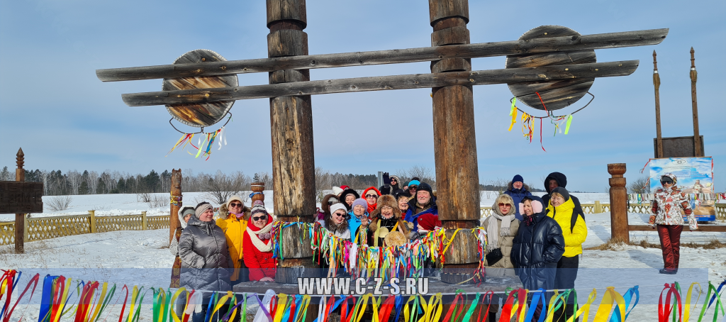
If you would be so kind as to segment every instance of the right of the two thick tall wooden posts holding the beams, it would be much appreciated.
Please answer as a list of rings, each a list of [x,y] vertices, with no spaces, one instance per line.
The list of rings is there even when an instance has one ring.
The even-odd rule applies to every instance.
[[[429,0],[433,33],[431,46],[469,44],[468,0]],[[431,62],[431,73],[471,71],[471,60],[447,58]],[[479,172],[476,160],[474,98],[472,86],[454,85],[432,89],[433,148],[436,160],[436,189],[439,218],[446,235],[454,229],[479,225]],[[478,266],[476,236],[460,230],[455,245],[444,256],[441,281],[459,283],[472,277]]]

